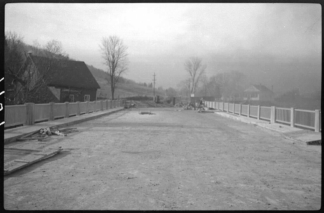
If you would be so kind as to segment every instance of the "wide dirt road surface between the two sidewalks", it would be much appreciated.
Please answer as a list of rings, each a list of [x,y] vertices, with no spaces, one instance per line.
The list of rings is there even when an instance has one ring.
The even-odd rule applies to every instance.
[[[320,209],[320,146],[177,109],[121,111],[29,143],[64,151],[4,176],[5,209]]]

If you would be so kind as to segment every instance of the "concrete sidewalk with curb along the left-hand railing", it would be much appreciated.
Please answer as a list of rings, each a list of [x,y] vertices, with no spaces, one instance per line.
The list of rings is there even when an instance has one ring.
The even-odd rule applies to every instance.
[[[70,118],[62,118],[53,121],[41,122],[34,125],[27,125],[22,127],[17,127],[13,129],[4,130],[4,144],[8,144],[16,141],[17,138],[23,137],[29,133],[37,132],[40,129],[45,129],[46,127],[50,128],[63,128],[71,125],[75,125],[77,123],[81,123],[84,121],[88,121],[91,119],[96,119],[102,116],[107,116],[112,113],[116,113],[118,111],[123,110],[123,107],[116,107],[111,109],[106,109],[103,111],[93,112],[89,114],[84,114],[81,116],[75,116]]]

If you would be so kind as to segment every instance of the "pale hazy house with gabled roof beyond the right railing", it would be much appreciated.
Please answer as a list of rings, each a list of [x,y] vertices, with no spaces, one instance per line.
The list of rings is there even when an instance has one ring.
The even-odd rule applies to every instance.
[[[274,101],[274,93],[264,85],[250,85],[243,92],[243,100],[250,101]]]

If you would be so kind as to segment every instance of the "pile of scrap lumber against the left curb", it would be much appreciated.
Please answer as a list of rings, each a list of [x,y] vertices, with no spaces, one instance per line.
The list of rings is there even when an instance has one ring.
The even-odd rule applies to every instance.
[[[25,141],[25,140],[43,141],[48,139],[50,135],[67,136],[67,134],[71,132],[78,132],[78,130],[76,128],[59,129],[59,128],[46,127],[45,129],[40,129],[36,132],[27,134],[24,137],[17,138],[17,141]]]

